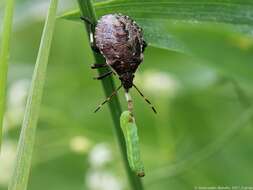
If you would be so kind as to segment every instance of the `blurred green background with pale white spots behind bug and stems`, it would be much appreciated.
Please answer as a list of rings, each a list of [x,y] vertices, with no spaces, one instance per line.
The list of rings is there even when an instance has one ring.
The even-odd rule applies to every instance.
[[[59,15],[77,7],[75,3],[60,1]],[[47,7],[48,1],[16,3],[0,190],[11,177]],[[0,3],[0,21],[3,8]],[[136,84],[158,114],[131,92],[146,170],[144,187],[252,186],[252,37],[208,23],[176,33],[191,55],[149,46],[136,74]],[[108,107],[93,113],[104,92],[92,79],[97,75],[92,63],[83,24],[58,19],[29,190],[129,189]],[[119,99],[126,109],[122,92]]]

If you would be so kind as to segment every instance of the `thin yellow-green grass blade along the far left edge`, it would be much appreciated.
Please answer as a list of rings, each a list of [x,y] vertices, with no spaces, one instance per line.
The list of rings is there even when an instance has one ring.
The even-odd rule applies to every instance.
[[[3,117],[5,110],[6,83],[8,73],[8,60],[10,50],[10,38],[14,0],[6,0],[5,16],[3,21],[2,44],[0,48],[0,152],[2,143]]]

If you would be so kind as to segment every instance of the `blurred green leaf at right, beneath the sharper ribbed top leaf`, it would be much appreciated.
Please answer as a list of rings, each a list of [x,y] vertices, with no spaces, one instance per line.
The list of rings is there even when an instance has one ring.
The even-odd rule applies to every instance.
[[[253,81],[253,39],[230,32],[227,28],[207,25],[174,28],[174,35],[182,40],[191,55],[217,73],[239,81]]]

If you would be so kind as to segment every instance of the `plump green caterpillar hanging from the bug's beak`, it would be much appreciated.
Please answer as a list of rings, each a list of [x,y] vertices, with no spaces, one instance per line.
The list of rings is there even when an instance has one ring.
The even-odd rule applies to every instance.
[[[125,137],[129,166],[137,176],[144,177],[144,165],[140,157],[137,126],[131,112],[124,111],[121,114],[120,125]]]

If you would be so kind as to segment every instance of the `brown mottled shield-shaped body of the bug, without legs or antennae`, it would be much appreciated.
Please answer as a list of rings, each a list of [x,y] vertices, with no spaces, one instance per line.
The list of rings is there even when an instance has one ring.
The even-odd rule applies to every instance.
[[[108,65],[119,75],[123,87],[133,85],[136,69],[143,60],[143,32],[128,16],[103,16],[95,28],[95,43]]]

